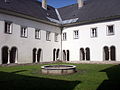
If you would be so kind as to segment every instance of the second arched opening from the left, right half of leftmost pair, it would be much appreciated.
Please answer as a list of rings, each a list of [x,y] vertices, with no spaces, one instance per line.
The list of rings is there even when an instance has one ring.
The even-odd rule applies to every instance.
[[[10,51],[10,63],[15,63],[17,61],[17,48],[12,47]]]

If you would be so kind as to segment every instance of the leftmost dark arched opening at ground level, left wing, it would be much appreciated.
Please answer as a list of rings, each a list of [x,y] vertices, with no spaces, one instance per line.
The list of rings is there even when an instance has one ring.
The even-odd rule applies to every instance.
[[[2,64],[8,63],[8,49],[6,46],[2,48]]]

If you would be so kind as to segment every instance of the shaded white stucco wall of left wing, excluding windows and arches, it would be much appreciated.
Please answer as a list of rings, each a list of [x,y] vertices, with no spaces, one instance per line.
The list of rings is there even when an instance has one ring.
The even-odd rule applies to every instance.
[[[13,22],[12,34],[4,33],[4,20]],[[28,37],[20,36],[20,26],[28,27]],[[41,39],[35,39],[35,28],[41,29]],[[51,41],[46,41],[46,31],[51,32]],[[59,33],[59,42],[54,41],[54,34]],[[61,31],[59,27],[43,24],[15,16],[0,14],[0,64],[2,63],[3,46],[10,49],[15,46],[18,49],[18,63],[33,62],[33,48],[41,48],[43,59],[41,62],[53,61],[53,49],[61,50]]]

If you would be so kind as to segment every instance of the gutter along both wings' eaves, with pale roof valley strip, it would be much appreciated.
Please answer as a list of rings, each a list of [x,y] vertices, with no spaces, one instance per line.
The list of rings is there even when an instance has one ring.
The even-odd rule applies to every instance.
[[[56,26],[56,27],[60,27],[60,28],[61,27],[72,27],[72,26],[78,26],[78,25],[83,25],[83,24],[90,24],[90,23],[96,23],[96,22],[103,22],[103,21],[120,19],[120,15],[115,15],[115,16],[101,17],[101,18],[96,18],[96,19],[91,19],[91,20],[86,20],[86,21],[80,21],[80,22],[73,22],[73,23],[64,24],[58,10],[55,9],[55,11],[56,11],[56,13],[58,15],[60,23],[45,21],[45,20],[35,18],[33,16],[22,14],[22,13],[17,13],[17,12],[5,10],[5,9],[0,9],[0,13],[3,13],[3,14],[12,15],[12,16],[16,16],[16,17],[21,17],[21,18],[41,22],[41,23],[44,23],[44,24],[48,24],[48,25],[52,25],[52,26]]]

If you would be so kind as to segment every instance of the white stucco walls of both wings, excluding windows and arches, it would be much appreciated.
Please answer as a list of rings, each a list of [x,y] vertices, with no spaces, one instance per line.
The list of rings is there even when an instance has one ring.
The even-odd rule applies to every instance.
[[[13,22],[12,34],[4,33],[4,21]],[[28,27],[28,37],[20,36],[20,26]],[[115,34],[107,35],[107,25],[114,25]],[[97,37],[91,38],[91,28],[97,27]],[[35,39],[35,28],[41,29],[41,39]],[[73,38],[73,31],[79,30],[79,39]],[[51,41],[46,41],[46,31],[51,32]],[[103,47],[116,47],[116,61],[120,61],[120,20],[101,22],[94,24],[79,25],[64,28],[67,33],[67,40],[62,41],[61,30],[59,27],[43,24],[15,16],[0,14],[0,64],[2,64],[2,47],[8,46],[9,49],[17,47],[18,63],[33,62],[33,48],[41,48],[43,57],[41,62],[53,61],[53,49],[69,50],[70,61],[80,61],[80,48],[90,48],[90,61],[103,61]],[[59,42],[54,41],[54,34],[59,33]],[[61,52],[60,52],[61,54]],[[61,56],[61,55],[59,55]],[[61,59],[61,57],[60,57]]]

